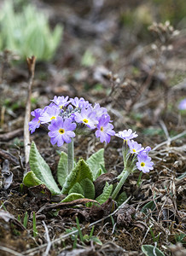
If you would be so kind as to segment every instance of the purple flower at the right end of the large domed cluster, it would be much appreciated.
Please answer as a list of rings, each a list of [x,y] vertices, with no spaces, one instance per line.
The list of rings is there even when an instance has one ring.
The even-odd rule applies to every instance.
[[[99,119],[99,123],[96,126],[96,137],[100,137],[101,143],[110,142],[110,137],[115,134],[115,131],[113,131],[113,125],[109,123],[110,117],[109,115],[102,115],[102,117]]]

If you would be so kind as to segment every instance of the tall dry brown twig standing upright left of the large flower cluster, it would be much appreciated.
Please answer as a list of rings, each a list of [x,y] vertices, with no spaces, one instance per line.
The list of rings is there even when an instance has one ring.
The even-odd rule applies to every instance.
[[[32,56],[31,58],[27,58],[26,61],[27,61],[28,71],[29,71],[29,84],[28,84],[28,94],[27,94],[27,101],[26,101],[25,121],[24,121],[24,146],[25,146],[26,166],[27,166],[28,160],[29,160],[29,154],[30,154],[30,133],[29,133],[28,123],[30,121],[30,113],[31,113],[32,84],[33,84],[33,78],[34,78],[36,57]]]

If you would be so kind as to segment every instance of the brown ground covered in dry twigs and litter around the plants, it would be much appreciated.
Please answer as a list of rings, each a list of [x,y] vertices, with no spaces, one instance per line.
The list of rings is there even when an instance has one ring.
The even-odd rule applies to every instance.
[[[176,17],[172,29],[168,23],[148,28],[153,20],[161,21],[160,6],[154,5],[155,1],[124,2],[34,1],[38,9],[49,12],[51,26],[59,22],[64,32],[54,59],[36,61],[32,109],[44,108],[54,96],[83,96],[92,104],[99,102],[108,109],[114,131],[137,131],[137,142],[152,148],[154,170],[142,175],[140,186],[139,173],[127,179],[122,191],[128,201],[120,209],[111,199],[102,209],[87,207],[84,201],[60,205],[58,214],[47,208],[61,197],[51,196],[45,187],[41,196],[40,187],[21,185],[26,170],[23,126],[29,79],[26,61],[17,63],[11,52],[4,51],[0,84],[1,255],[143,255],[142,245],[158,247],[165,255],[185,255],[186,113],[178,109],[186,95],[185,24]],[[47,131],[40,128],[31,141],[56,177],[57,150],[67,152],[67,145],[52,146]],[[75,157],[87,159],[105,148],[108,181],[112,183],[123,170],[122,143],[119,137],[105,144],[94,134],[78,136]],[[35,212],[38,236],[33,236]],[[67,235],[67,230],[77,228],[76,217],[83,235],[90,235],[94,225],[93,236],[102,244],[82,241],[80,234],[74,242],[75,236]]]

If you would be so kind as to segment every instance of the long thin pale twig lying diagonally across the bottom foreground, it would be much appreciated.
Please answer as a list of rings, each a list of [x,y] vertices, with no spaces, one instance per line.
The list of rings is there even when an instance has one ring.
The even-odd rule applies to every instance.
[[[91,226],[102,222],[102,221],[105,220],[106,218],[109,218],[109,217],[113,216],[116,212],[119,211],[120,208],[122,208],[122,207],[125,205],[125,203],[127,203],[127,201],[130,201],[130,199],[131,199],[131,196],[129,196],[129,197],[127,198],[127,200],[125,200],[125,202],[123,202],[123,204],[121,204],[114,212],[110,213],[108,216],[106,216],[106,217],[104,217],[104,218],[101,218],[101,219],[96,220],[95,222],[93,222],[93,223],[89,224],[88,226],[86,226],[86,228],[90,228]],[[81,230],[84,230],[84,228],[85,228],[85,227],[81,228]],[[60,236],[59,238],[56,238],[55,240],[51,241],[51,244],[53,244],[53,243],[55,243],[55,242],[57,242],[57,241],[64,240],[64,239],[66,239],[67,237],[72,236],[72,235],[75,234],[75,233],[77,233],[77,230],[73,230],[72,232],[68,233],[67,235]],[[28,253],[33,253],[33,252],[38,251],[38,250],[40,250],[40,249],[42,249],[42,248],[44,248],[44,247],[47,247],[47,246],[48,246],[48,244],[45,243],[45,244],[41,245],[40,247],[35,247],[35,248],[32,248],[32,249],[29,249],[29,250],[27,250],[26,252],[24,252],[24,255],[26,255],[26,254],[28,254]]]

